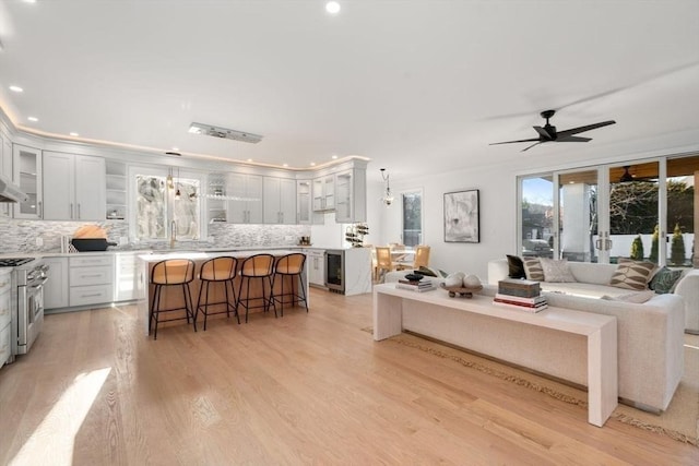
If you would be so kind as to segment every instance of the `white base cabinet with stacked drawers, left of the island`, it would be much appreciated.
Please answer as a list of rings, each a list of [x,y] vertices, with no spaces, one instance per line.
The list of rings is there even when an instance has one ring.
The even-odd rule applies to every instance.
[[[114,256],[69,258],[70,306],[104,304],[114,299]]]

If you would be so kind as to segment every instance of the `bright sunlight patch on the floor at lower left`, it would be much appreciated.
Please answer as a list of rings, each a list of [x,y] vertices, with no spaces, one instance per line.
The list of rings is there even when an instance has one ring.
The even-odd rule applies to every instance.
[[[10,466],[72,465],[75,435],[111,368],[82,373],[63,392]]]

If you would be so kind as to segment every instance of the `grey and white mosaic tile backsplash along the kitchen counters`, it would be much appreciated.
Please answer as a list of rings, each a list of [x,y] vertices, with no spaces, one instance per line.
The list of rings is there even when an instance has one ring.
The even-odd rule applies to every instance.
[[[0,254],[13,252],[60,252],[61,237],[72,236],[83,225],[98,225],[107,231],[107,240],[119,246],[109,250],[169,249],[169,241],[134,241],[129,238],[129,224],[123,220],[47,222],[0,218]],[[202,241],[177,241],[176,249],[240,248],[256,246],[294,246],[301,236],[310,235],[307,225],[209,225],[209,238]],[[123,239],[123,241],[122,241]],[[38,240],[38,241],[37,241]],[[40,244],[40,246],[39,246]]]

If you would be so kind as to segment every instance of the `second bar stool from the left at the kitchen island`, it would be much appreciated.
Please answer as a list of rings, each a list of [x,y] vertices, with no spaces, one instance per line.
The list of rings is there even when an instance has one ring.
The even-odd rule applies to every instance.
[[[240,323],[240,316],[238,315],[238,308],[236,306],[237,304],[236,290],[235,290],[235,287],[233,286],[233,279],[236,276],[237,266],[238,266],[238,260],[236,258],[230,258],[228,255],[210,259],[209,261],[201,264],[201,270],[199,271],[199,279],[201,280],[201,285],[199,287],[199,296],[197,297],[197,310],[194,311],[194,321],[197,321],[199,311],[201,311],[201,313],[204,314],[204,332],[206,332],[206,318],[209,315],[223,314],[225,312],[226,315],[230,318],[232,308],[233,308],[233,311],[235,312],[236,319],[238,320],[238,324]],[[211,285],[216,285],[216,284],[223,285],[226,299],[224,301],[210,302],[209,290],[211,288]],[[228,285],[230,285],[233,303],[230,301],[230,296],[228,295]],[[201,300],[202,295],[204,297],[204,302],[202,302]],[[210,306],[218,306],[218,304],[225,304],[225,309],[216,312],[209,311]]]

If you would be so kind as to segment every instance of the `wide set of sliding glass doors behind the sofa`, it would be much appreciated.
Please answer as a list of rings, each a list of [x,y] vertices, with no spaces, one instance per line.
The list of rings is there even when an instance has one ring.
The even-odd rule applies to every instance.
[[[698,266],[699,155],[520,177],[522,255]]]

